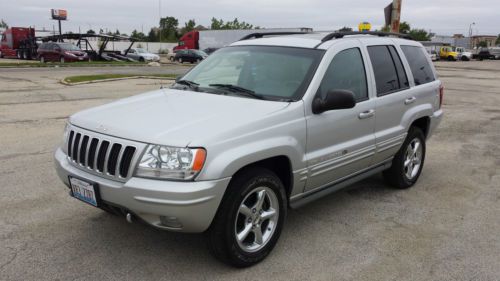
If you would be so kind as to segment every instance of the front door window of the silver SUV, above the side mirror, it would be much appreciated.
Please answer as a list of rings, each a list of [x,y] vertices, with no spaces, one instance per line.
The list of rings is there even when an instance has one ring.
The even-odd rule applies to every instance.
[[[318,94],[324,98],[330,90],[352,91],[356,101],[368,99],[365,66],[358,48],[335,55],[321,81]]]

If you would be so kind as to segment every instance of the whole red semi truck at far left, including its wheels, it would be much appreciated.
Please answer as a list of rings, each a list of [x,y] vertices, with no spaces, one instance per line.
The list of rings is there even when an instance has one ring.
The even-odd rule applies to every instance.
[[[7,28],[1,35],[0,58],[35,59],[38,44],[32,27]]]

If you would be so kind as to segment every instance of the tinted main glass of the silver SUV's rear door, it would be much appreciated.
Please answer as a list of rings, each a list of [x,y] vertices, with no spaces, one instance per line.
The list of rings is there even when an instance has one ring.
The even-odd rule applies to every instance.
[[[377,95],[385,95],[401,88],[396,66],[388,46],[368,47],[370,60],[375,73]]]

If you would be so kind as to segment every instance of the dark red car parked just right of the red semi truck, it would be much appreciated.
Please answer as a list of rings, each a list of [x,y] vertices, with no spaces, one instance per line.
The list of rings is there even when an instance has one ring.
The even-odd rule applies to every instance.
[[[48,61],[65,63],[90,60],[86,52],[71,43],[43,43],[38,47],[37,54],[42,63]]]

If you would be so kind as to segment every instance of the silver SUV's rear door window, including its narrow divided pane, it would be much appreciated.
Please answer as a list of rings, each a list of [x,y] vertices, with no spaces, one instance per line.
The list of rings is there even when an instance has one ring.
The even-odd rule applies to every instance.
[[[375,74],[377,96],[408,88],[408,78],[394,46],[370,46],[368,53]]]

